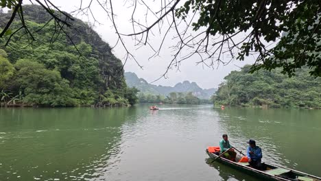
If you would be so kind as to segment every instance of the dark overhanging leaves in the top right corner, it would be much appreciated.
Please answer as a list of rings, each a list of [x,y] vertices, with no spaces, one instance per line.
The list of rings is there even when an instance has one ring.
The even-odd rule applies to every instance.
[[[185,19],[189,12],[198,14],[192,23],[194,31],[202,32],[205,28],[206,34],[226,36],[227,40],[246,32],[248,40],[240,42],[237,58],[244,60],[253,51],[259,53],[260,63],[254,64],[252,72],[282,67],[281,72],[291,76],[306,65],[310,74],[318,77],[321,76],[320,6],[318,0],[187,0],[176,16]],[[265,42],[276,40],[280,41],[272,49],[265,46]]]

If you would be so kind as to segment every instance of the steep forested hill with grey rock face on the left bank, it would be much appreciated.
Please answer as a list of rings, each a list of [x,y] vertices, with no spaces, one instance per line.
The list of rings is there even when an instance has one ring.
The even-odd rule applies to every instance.
[[[9,18],[10,12],[0,14],[0,27]],[[1,105],[134,104],[137,91],[126,86],[121,60],[86,23],[75,19],[72,28],[58,27],[37,5],[24,6],[24,19],[33,37],[19,31],[4,46],[21,27],[14,21],[0,39]]]

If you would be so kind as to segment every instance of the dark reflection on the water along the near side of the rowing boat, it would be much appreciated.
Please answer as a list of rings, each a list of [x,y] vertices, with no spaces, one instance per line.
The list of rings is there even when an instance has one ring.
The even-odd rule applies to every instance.
[[[205,162],[210,167],[213,167],[217,171],[219,171],[219,176],[221,177],[220,180],[246,180],[246,181],[259,180],[257,178],[254,178],[253,176],[247,175],[246,173],[242,173],[241,171],[228,167],[227,165],[224,165],[220,162],[217,162],[217,161],[213,162],[212,158],[206,158]]]

